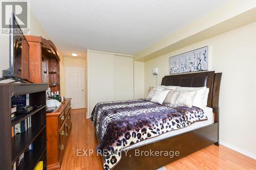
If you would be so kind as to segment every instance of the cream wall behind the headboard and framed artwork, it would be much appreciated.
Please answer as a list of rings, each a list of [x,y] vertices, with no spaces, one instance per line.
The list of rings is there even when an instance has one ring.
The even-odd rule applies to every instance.
[[[145,88],[156,84],[152,68],[159,68],[158,85],[169,75],[169,57],[208,45],[210,70],[222,72],[220,141],[256,158],[256,22],[186,46],[145,62]]]

